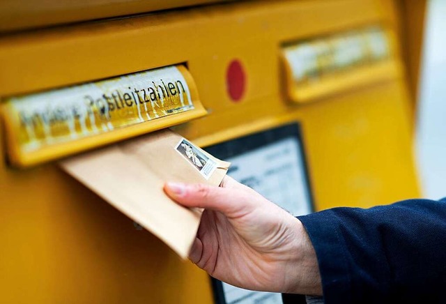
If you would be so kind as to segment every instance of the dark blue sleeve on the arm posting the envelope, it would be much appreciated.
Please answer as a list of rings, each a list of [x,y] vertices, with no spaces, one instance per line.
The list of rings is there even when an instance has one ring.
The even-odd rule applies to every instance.
[[[316,250],[325,304],[446,303],[445,199],[298,219]]]

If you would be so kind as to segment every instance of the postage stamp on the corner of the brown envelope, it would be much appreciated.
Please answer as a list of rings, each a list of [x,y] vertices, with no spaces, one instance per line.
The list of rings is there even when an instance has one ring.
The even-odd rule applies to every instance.
[[[208,158],[201,150],[187,139],[181,139],[175,147],[204,178],[209,179],[217,168],[217,163]]]

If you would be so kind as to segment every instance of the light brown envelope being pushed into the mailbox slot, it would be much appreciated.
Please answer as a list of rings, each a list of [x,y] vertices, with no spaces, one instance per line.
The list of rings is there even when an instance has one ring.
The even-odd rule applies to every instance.
[[[61,161],[69,174],[151,231],[183,259],[201,210],[178,205],[164,182],[220,185],[229,162],[214,158],[171,130],[160,130]]]

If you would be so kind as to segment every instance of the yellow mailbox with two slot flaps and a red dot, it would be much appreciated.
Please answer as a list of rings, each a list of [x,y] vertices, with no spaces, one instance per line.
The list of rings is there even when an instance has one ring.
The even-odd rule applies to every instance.
[[[159,128],[210,147],[299,126],[316,210],[419,195],[401,1],[3,2],[0,303],[213,303],[206,273],[56,165]],[[190,100],[132,96],[159,71]]]

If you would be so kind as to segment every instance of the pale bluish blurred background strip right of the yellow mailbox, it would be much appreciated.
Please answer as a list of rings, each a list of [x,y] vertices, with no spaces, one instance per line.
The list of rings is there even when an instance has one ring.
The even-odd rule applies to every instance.
[[[423,195],[431,199],[446,195],[445,14],[445,1],[428,1],[418,96],[416,149]]]

